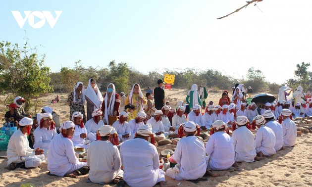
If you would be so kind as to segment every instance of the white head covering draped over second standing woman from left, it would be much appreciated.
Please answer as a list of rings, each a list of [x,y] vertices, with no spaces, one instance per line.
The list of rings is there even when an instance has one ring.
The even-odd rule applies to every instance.
[[[93,109],[101,108],[103,96],[100,92],[100,89],[99,89],[97,83],[96,83],[94,89],[92,88],[91,79],[89,79],[89,84],[88,84],[88,87],[87,87],[86,92],[85,92],[85,97],[87,97],[88,98],[87,101],[90,101],[91,104],[94,106]]]

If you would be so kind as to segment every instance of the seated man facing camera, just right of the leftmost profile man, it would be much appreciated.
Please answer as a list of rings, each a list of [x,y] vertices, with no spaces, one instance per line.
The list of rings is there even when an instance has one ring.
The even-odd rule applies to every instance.
[[[39,127],[34,131],[34,148],[43,149],[47,156],[50,142],[57,135],[55,124],[50,113],[37,114],[36,118],[38,118]]]

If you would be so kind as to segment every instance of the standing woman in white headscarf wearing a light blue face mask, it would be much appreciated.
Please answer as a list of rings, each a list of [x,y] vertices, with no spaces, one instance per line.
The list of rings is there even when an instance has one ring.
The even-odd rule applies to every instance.
[[[118,120],[119,105],[119,94],[116,93],[115,85],[110,83],[107,86],[106,93],[104,93],[104,101],[101,108],[104,116],[103,121],[106,125],[112,125]]]

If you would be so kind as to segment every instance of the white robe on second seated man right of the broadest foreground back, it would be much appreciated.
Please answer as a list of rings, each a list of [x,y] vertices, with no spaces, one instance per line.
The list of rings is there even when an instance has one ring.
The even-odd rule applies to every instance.
[[[235,162],[234,141],[224,132],[211,135],[205,152],[208,155],[208,168],[211,170],[226,170]]]

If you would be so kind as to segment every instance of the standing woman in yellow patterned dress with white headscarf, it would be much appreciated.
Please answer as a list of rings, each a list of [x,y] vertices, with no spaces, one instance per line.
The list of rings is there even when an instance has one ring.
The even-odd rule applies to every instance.
[[[143,104],[147,102],[146,98],[144,97],[140,85],[134,84],[130,93],[128,94],[126,98],[126,105],[132,104],[134,105],[134,109],[131,111],[133,116],[137,116],[139,112],[144,112]]]

